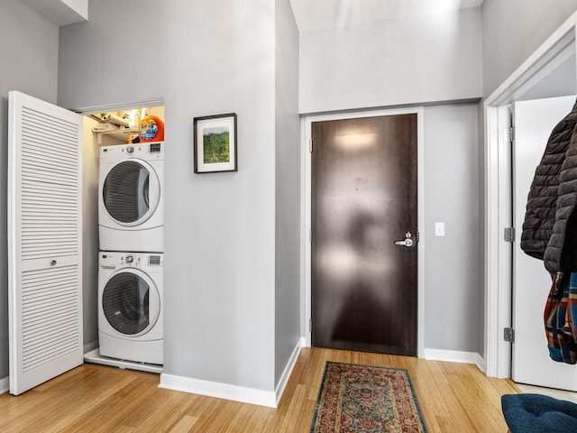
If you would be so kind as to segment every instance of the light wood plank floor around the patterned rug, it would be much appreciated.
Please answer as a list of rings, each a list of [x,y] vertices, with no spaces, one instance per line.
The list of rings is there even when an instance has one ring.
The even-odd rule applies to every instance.
[[[500,396],[519,392],[470,364],[302,350],[278,409],[158,388],[159,376],[84,364],[20,396],[0,395],[2,432],[307,433],[326,361],[406,368],[429,432],[507,431]]]

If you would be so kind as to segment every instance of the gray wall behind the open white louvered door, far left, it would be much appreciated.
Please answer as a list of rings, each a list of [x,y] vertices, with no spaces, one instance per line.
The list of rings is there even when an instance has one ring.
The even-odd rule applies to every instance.
[[[20,90],[56,102],[58,27],[19,0],[3,0],[0,13],[0,379],[8,376],[8,269],[6,172],[8,92]]]

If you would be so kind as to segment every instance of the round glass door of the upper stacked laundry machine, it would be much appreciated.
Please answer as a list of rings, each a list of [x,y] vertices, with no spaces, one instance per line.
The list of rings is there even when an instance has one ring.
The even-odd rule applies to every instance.
[[[154,214],[159,205],[159,178],[146,161],[121,161],[108,171],[102,199],[106,211],[116,223],[121,226],[140,226]]]

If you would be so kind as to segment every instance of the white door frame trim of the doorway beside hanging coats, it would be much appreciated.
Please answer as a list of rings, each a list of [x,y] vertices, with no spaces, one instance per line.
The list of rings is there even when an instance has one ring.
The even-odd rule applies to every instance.
[[[525,62],[483,101],[484,114],[484,354],[490,377],[511,375],[511,348],[503,341],[511,324],[511,244],[502,241],[502,228],[511,223],[510,199],[499,191],[510,190],[510,168],[502,134],[505,111],[568,56],[575,53],[577,13],[565,21]]]

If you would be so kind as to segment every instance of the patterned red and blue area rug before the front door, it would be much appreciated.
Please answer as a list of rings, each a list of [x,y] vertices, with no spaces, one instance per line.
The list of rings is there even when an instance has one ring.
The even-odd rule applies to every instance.
[[[426,433],[407,370],[327,362],[310,433]]]

